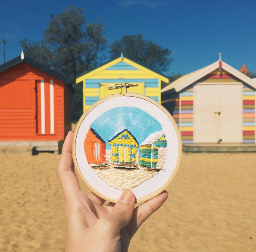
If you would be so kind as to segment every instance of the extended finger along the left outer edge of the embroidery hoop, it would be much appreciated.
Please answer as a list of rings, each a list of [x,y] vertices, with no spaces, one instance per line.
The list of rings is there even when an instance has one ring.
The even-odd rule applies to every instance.
[[[62,147],[61,158],[57,168],[59,183],[66,203],[72,200],[72,195],[81,191],[78,178],[74,171],[72,159],[72,138],[74,132],[69,131]]]

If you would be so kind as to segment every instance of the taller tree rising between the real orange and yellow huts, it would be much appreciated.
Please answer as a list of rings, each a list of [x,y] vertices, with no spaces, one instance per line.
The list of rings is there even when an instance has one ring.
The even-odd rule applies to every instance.
[[[107,38],[100,19],[87,23],[84,9],[66,7],[58,16],[51,15],[44,40],[20,41],[25,55],[41,64],[65,74],[75,89],[72,95],[72,119],[83,112],[82,85],[76,85],[76,76],[96,66],[103,57]]]

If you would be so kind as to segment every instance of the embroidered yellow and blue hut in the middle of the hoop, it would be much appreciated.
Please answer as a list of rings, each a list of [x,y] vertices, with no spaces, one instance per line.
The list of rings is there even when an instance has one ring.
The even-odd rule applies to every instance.
[[[112,145],[112,163],[115,167],[135,168],[137,147],[136,138],[128,129],[124,129],[109,140]]]

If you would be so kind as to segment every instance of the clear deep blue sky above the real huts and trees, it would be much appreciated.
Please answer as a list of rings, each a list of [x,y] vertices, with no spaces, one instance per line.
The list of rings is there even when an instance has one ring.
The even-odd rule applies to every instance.
[[[84,8],[88,22],[101,18],[109,43],[142,34],[172,50],[174,61],[164,74],[187,74],[217,61],[219,52],[234,68],[245,63],[256,73],[254,0],[1,1],[0,39],[6,39],[6,61],[20,54],[20,40],[42,40],[50,14],[58,15],[71,4]]]

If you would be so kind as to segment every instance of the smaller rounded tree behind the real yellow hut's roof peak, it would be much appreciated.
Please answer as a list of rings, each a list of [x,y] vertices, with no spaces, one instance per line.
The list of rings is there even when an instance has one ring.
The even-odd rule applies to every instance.
[[[173,61],[170,57],[172,51],[151,40],[143,40],[142,35],[127,35],[110,45],[110,58],[120,57],[121,52],[125,57],[157,72],[167,71]]]

